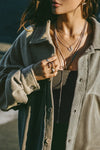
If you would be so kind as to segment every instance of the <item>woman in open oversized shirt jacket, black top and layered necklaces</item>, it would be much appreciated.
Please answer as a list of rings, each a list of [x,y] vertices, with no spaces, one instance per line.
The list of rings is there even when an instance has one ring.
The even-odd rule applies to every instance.
[[[100,149],[97,3],[34,0],[24,12],[20,28],[31,26],[0,62],[0,107],[19,109],[21,150]]]

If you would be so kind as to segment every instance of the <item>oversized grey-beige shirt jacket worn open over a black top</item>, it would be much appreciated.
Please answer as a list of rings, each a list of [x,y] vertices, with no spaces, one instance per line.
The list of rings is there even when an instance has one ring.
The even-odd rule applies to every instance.
[[[78,61],[66,150],[100,150],[100,24]],[[50,21],[23,31],[0,62],[0,108],[19,109],[20,150],[50,150],[54,124],[52,79],[37,81],[32,66],[55,53]],[[67,97],[66,97],[67,100]]]

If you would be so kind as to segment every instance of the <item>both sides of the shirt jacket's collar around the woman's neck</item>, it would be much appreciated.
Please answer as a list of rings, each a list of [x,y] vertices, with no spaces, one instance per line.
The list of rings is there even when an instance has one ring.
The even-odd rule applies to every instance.
[[[94,50],[100,49],[100,23],[93,17],[90,18],[89,20],[93,24],[93,29],[94,29],[94,39],[93,39],[92,47]],[[51,23],[50,20],[48,20],[44,26],[36,27],[29,43],[38,44],[44,41],[49,41],[49,43],[53,45],[50,36],[50,23]]]

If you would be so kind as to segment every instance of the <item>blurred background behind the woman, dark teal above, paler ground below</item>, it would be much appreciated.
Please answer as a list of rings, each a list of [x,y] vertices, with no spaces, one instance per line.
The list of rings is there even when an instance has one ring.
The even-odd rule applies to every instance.
[[[0,58],[16,39],[22,12],[31,0],[0,0]],[[100,2],[99,2],[100,3]],[[97,14],[100,20],[100,13]],[[0,111],[0,150],[19,150],[17,111]]]

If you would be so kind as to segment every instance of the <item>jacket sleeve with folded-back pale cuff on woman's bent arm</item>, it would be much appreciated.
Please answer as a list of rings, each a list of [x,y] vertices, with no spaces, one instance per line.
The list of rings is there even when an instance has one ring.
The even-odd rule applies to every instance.
[[[8,110],[28,102],[28,96],[39,90],[32,65],[24,66],[20,37],[0,62],[0,109]]]

